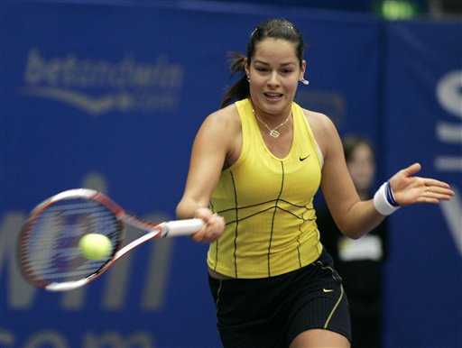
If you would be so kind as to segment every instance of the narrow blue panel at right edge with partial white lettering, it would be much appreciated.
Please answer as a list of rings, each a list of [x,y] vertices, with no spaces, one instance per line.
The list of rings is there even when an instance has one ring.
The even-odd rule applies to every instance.
[[[450,183],[441,206],[391,217],[386,282],[387,346],[462,346],[462,30],[460,23],[393,23],[384,130],[387,173],[420,161]]]

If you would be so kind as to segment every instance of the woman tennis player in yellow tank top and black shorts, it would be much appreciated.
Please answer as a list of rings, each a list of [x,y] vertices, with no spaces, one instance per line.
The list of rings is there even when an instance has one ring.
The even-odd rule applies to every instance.
[[[400,206],[439,203],[448,184],[414,176],[415,163],[361,201],[328,116],[294,103],[304,43],[293,23],[252,32],[242,73],[196,136],[179,218],[206,224],[208,273],[225,347],[349,347],[342,282],[319,243],[319,186],[343,234],[359,238]]]

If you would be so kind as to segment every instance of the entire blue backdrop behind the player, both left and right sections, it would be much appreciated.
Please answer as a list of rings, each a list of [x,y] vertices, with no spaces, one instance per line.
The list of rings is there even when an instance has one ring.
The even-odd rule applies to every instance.
[[[461,23],[127,4],[0,5],[0,346],[219,346],[206,246],[144,244],[87,288],[57,294],[22,279],[16,242],[32,206],[68,188],[173,218],[194,135],[233,82],[226,53],[245,51],[271,16],[308,43],[301,105],[341,134],[369,136],[381,179],[418,160],[457,189],[448,205],[391,217],[384,315],[387,347],[461,346]]]

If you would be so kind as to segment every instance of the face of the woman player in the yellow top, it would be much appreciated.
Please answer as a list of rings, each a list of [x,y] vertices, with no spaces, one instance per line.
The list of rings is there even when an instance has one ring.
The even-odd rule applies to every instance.
[[[250,96],[258,114],[287,117],[291,102],[305,72],[305,61],[296,56],[296,44],[281,39],[265,39],[255,46],[246,67]]]

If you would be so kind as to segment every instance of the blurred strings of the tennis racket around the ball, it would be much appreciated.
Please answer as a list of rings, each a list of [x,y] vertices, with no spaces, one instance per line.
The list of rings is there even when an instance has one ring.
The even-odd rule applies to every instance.
[[[108,260],[90,261],[81,255],[85,234],[104,234],[120,243],[122,225],[111,210],[95,200],[66,199],[46,207],[27,227],[21,246],[23,270],[35,282],[65,282],[87,278]]]

